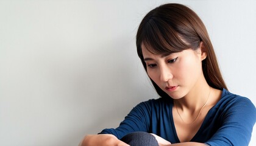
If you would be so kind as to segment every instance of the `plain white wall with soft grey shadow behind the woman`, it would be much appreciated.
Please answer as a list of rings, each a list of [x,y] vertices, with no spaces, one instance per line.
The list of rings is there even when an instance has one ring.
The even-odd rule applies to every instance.
[[[0,0],[0,145],[77,145],[157,98],[135,35],[165,2],[202,18],[230,91],[255,104],[256,1]]]

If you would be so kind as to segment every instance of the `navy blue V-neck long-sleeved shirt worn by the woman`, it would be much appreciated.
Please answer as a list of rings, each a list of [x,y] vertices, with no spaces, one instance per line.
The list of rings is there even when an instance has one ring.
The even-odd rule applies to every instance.
[[[104,129],[99,134],[113,134],[121,139],[128,133],[145,131],[179,143],[172,117],[171,98],[141,102],[125,117],[118,128]],[[191,142],[208,145],[248,145],[256,120],[251,100],[223,89],[221,99],[211,108]]]

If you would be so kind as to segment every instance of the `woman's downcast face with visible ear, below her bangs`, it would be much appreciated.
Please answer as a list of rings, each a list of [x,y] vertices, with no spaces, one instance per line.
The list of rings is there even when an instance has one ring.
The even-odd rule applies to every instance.
[[[202,44],[201,44],[202,46]],[[202,60],[206,58],[197,50],[186,49],[169,55],[155,55],[141,44],[149,77],[172,99],[180,99],[191,90],[197,91],[205,81]]]

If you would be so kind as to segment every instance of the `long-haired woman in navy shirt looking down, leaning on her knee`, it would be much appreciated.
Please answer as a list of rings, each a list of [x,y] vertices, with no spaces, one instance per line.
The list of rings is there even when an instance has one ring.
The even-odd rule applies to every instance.
[[[249,144],[255,106],[227,90],[193,10],[181,4],[151,10],[138,28],[137,52],[160,98],[135,106],[118,128],[85,136],[82,145]]]

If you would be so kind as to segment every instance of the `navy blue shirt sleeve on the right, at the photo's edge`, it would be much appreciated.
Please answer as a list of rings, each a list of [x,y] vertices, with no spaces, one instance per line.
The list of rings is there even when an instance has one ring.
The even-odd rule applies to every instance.
[[[225,107],[221,127],[205,144],[249,145],[256,120],[256,109],[251,100],[243,97]]]

